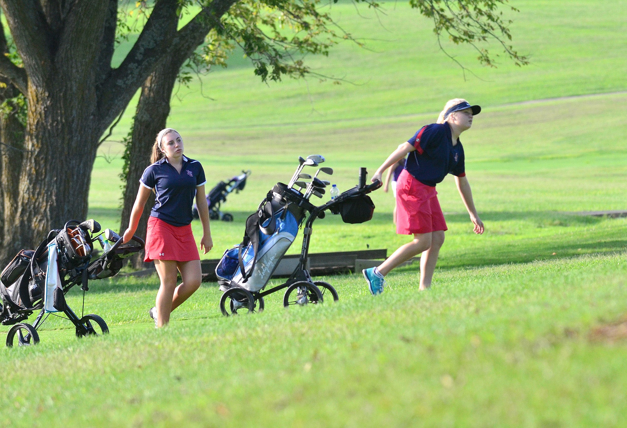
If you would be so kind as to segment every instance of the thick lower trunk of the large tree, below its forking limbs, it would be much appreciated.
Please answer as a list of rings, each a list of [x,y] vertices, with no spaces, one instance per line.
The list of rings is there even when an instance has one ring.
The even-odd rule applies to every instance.
[[[65,88],[63,83],[68,81],[58,79],[46,89],[29,88],[18,203],[13,218],[5,213],[4,232],[10,239],[0,258],[12,257],[21,248],[33,248],[51,228],[87,217],[100,136],[94,125],[95,111],[88,108],[95,106],[95,94],[88,89],[90,85],[78,89]],[[66,115],[66,111],[73,114]]]

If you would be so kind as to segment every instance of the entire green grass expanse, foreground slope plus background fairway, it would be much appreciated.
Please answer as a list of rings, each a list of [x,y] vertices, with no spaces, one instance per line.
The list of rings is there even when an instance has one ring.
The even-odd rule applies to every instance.
[[[205,283],[157,331],[147,317],[156,277],[94,281],[85,313],[102,315],[111,334],[79,340],[50,317],[40,345],[3,350],[0,425],[627,424],[627,342],[596,330],[627,314],[627,219],[572,214],[627,208],[627,45],[615,43],[627,2],[604,2],[599,13],[596,1],[518,1],[514,43],[532,64],[502,59],[482,69],[455,48],[483,79],[467,81],[438,51],[428,21],[411,21],[402,3],[384,6],[381,24],[333,6],[372,51],[343,43],[310,58],[320,73],[359,86],[265,86],[234,59],[203,78],[214,101],[198,82],[173,99],[168,125],[203,162],[208,188],[253,171],[224,205],[235,221],[212,223],[215,249],[203,257],[240,242],[246,217],[290,178],[298,155],[324,155],[346,190],[360,166],[374,172],[454,96],[484,108],[461,140],[485,234],[472,233],[447,178],[438,192],[449,230],[428,292],[417,291],[414,264],[391,273],[376,298],[361,275],[339,275],[321,278],[339,291],[337,303],[284,310],[277,293],[263,313],[224,318],[221,292]],[[579,97],[547,99],[569,96]],[[112,138],[125,135],[132,110]],[[116,230],[120,150],[103,145],[110,163],[97,159],[90,194],[90,216]],[[390,253],[406,242],[391,224],[392,196],[372,198],[371,222],[317,220],[311,251]],[[199,222],[192,227],[199,239]],[[68,301],[80,312],[78,289]]]

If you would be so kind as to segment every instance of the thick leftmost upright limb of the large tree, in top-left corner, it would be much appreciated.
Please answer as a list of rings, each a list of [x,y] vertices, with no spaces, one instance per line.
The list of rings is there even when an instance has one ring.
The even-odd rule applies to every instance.
[[[43,83],[45,71],[50,68],[51,64],[51,44],[54,38],[40,2],[37,0],[1,0],[1,4],[15,46],[24,61],[25,74],[28,74],[35,84]],[[9,78],[11,75],[17,78],[21,74],[14,69],[10,70],[8,64],[5,64],[3,68],[10,74]],[[26,85],[21,84],[21,86]]]

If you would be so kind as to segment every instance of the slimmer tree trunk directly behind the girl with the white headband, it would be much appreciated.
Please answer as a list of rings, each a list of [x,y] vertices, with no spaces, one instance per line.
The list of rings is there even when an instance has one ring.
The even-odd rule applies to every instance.
[[[131,140],[129,141],[129,173],[124,188],[124,206],[122,207],[122,232],[128,227],[130,212],[139,190],[139,179],[145,168],[150,165],[150,152],[159,131],[166,128],[170,114],[170,98],[176,83],[181,64],[174,63],[172,55],[164,58],[155,71],[146,79],[139,96]],[[154,194],[144,206],[144,212],[137,226],[135,235],[145,240],[150,209],[154,205]],[[144,252],[133,256],[131,263],[135,268],[144,267]]]

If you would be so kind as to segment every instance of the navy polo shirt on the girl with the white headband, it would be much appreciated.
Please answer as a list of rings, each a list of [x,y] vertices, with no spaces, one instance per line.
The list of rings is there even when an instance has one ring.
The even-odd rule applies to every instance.
[[[155,205],[150,211],[150,217],[161,218],[172,226],[187,226],[192,222],[196,188],[207,181],[203,165],[183,156],[180,173],[164,157],[148,166],[139,182],[155,190]]]

